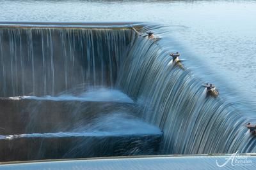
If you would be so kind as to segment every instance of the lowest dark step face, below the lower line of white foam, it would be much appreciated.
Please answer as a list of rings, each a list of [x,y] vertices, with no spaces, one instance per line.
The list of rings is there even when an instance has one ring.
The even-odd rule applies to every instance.
[[[161,137],[161,134],[6,136],[0,139],[0,161],[153,155],[159,150]]]

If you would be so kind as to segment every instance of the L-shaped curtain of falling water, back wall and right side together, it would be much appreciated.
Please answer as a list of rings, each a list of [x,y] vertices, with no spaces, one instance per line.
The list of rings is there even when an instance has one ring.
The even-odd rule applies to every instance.
[[[148,29],[156,27],[138,31]],[[0,94],[61,100],[60,92],[77,85],[85,92],[105,86],[131,97],[141,117],[163,131],[161,153],[256,152],[255,138],[241,126],[255,116],[227,95],[205,97],[204,81],[193,70],[169,64],[168,53],[176,48],[168,43],[167,50],[164,42],[138,36],[131,27],[0,29]],[[86,95],[94,94],[81,98]]]

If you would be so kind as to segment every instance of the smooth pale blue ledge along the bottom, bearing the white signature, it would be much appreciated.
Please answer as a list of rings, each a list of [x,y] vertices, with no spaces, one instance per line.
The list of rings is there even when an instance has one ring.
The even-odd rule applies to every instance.
[[[239,162],[225,162],[231,155],[168,155],[152,157],[112,157],[108,159],[77,159],[49,162],[15,162],[15,164],[5,164],[0,166],[3,170],[43,170],[43,169],[255,169],[256,157],[248,155],[236,155]],[[246,159],[246,161],[244,161]],[[217,165],[217,163],[218,165]],[[221,167],[220,167],[221,166]]]

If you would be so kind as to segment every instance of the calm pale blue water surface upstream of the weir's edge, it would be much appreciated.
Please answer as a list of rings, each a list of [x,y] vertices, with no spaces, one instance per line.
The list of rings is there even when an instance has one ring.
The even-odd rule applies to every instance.
[[[175,40],[175,50],[189,58],[189,67],[203,67],[200,74],[207,75],[213,83],[225,75],[220,84],[216,83],[218,86],[228,82],[237,93],[255,101],[252,89],[256,88],[256,3],[253,0],[1,0],[0,3],[0,21],[6,22],[129,21],[166,25],[164,36]],[[195,59],[204,64],[190,63]],[[207,73],[205,68],[211,72]]]

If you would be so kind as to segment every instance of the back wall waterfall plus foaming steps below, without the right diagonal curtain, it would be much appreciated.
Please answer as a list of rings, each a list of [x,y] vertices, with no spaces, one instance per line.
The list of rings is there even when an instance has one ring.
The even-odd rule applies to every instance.
[[[0,161],[159,152],[162,132],[115,89],[130,24],[0,22]]]

